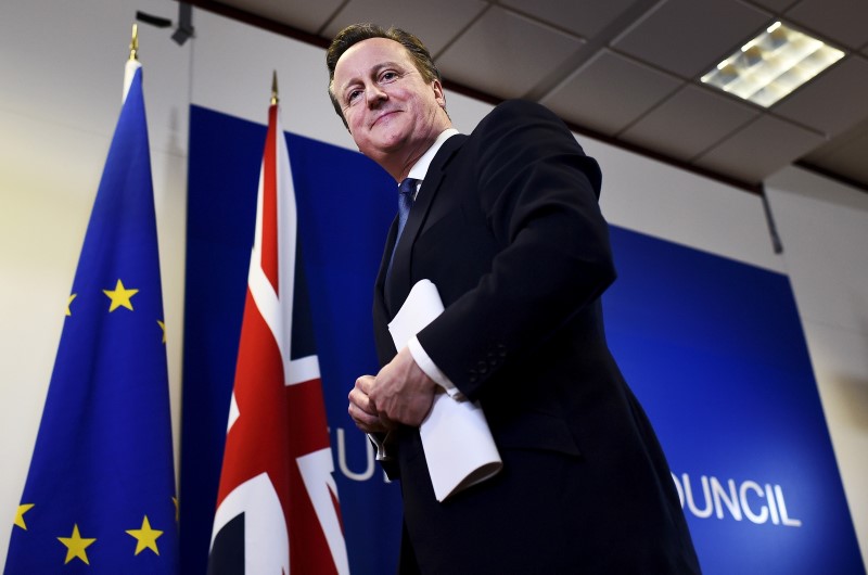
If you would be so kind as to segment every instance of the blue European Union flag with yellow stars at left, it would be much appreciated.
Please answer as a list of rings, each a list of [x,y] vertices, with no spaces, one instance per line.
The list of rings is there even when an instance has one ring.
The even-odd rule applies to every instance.
[[[177,500],[137,62],[54,362],[5,573],[174,573]]]

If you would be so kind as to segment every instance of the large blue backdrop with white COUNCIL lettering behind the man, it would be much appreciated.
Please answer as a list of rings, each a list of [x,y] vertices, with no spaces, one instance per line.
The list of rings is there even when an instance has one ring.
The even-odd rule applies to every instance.
[[[265,131],[191,108],[182,573],[207,561]],[[286,139],[350,568],[394,573],[398,486],[346,395],[378,370],[370,304],[395,184],[358,153]],[[865,573],[787,277],[615,227],[612,243],[610,346],[666,450],[705,573]]]

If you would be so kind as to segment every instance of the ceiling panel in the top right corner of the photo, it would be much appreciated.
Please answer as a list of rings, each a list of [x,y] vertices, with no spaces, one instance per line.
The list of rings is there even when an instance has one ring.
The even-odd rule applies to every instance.
[[[787,11],[786,17],[850,50],[858,50],[868,42],[868,2],[865,0],[802,0]]]

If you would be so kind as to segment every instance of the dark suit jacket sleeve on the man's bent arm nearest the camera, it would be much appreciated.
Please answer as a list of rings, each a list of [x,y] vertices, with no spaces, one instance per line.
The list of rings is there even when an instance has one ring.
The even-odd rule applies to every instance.
[[[598,205],[600,169],[560,118],[510,101],[478,125],[472,141],[475,192],[499,252],[476,286],[418,337],[474,399],[508,359],[532,357],[591,305],[615,270]]]

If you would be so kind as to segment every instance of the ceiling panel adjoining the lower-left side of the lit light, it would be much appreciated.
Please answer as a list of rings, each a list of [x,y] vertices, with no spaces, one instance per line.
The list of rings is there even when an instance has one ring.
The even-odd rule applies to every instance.
[[[687,86],[624,131],[620,139],[689,161],[760,115],[753,106]]]

